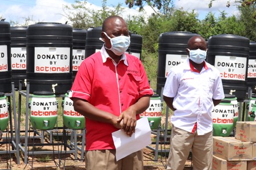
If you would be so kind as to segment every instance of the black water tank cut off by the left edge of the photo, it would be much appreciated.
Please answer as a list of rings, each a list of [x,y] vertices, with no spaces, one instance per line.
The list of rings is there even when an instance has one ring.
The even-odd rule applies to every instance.
[[[10,23],[0,21],[0,90],[11,91],[11,34]]]

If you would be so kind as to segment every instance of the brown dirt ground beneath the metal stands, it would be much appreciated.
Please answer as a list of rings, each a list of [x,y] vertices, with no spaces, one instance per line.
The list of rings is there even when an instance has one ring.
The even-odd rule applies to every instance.
[[[20,143],[25,144],[25,115],[21,116],[21,122],[18,122],[21,126],[21,133],[20,133]],[[161,119],[161,124],[165,123],[165,116],[162,117]],[[14,122],[13,122],[14,124]],[[81,131],[78,132],[78,134],[81,134]],[[29,151],[34,151],[34,155],[27,155],[27,160],[28,163],[25,164],[25,154],[23,151],[19,151],[19,164],[17,161],[17,155],[16,153],[10,153],[14,151],[13,145],[11,145],[9,142],[10,139],[9,135],[10,133],[3,133],[2,140],[0,141],[0,169],[86,169],[85,168],[85,161],[84,159],[81,159],[81,149],[78,150],[77,152],[77,159],[75,159],[75,154],[74,154],[74,145],[71,146],[71,140],[70,137],[67,139],[67,144],[71,146],[70,148],[67,147],[67,151],[71,151],[72,153],[65,153],[64,147],[59,148],[56,143],[62,143],[63,144],[63,138],[62,137],[56,137],[53,136],[52,139],[50,140],[51,137],[49,133],[45,132],[45,136],[42,137],[43,141],[41,141],[41,138],[35,137],[34,142],[33,142],[33,136],[34,133],[31,131],[29,133],[30,139],[28,140],[28,150]],[[14,134],[15,136],[15,134]],[[82,136],[78,135],[77,141],[79,144],[82,143]],[[149,145],[150,147],[146,147],[143,149],[143,156],[144,156],[144,170],[162,170],[166,169],[166,164],[167,164],[167,156],[169,153],[169,141],[166,141],[166,143],[163,142],[163,136],[160,137],[159,141],[161,142],[158,147],[158,156],[155,159],[155,141],[156,135],[152,134],[151,135],[151,141],[152,144]],[[52,145],[52,142],[55,144],[54,147]],[[34,143],[34,146],[32,145]],[[29,146],[29,144],[31,144]],[[44,146],[42,146],[44,144]],[[74,143],[73,143],[74,144]],[[78,147],[81,147],[81,145],[78,145]],[[166,149],[166,152],[163,152]],[[41,151],[56,151],[54,154],[46,154],[42,153]],[[5,151],[7,151],[5,153]],[[42,153],[42,154],[41,154]],[[191,166],[191,160],[188,159],[186,163],[185,169],[193,169]]]

